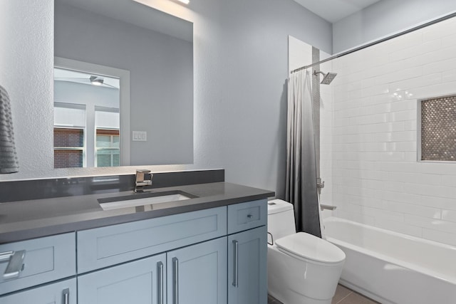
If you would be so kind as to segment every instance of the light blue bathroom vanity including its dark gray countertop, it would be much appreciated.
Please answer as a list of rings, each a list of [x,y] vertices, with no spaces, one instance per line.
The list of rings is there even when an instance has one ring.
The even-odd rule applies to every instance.
[[[19,276],[0,278],[0,303],[267,303],[266,198],[274,193],[225,182],[152,192],[177,188],[195,197],[148,211],[98,206],[101,196],[131,192],[39,199],[28,204],[60,201],[71,211],[60,205],[22,223],[11,210],[27,202],[0,204],[0,214],[9,208],[0,253],[25,251]]]

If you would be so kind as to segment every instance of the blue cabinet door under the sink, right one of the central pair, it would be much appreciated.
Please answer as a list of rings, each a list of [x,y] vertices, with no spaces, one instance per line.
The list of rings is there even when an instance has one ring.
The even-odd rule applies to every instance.
[[[227,303],[227,237],[167,253],[168,304]]]

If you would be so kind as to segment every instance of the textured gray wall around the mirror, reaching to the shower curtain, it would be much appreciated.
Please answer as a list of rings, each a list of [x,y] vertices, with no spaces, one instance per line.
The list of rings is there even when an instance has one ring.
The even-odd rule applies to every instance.
[[[46,4],[44,4],[46,2]],[[24,141],[52,151],[53,6],[51,1],[0,1],[1,12],[14,13],[4,26],[14,34],[0,34],[3,53],[27,64],[9,65],[0,83],[9,87],[15,127],[33,120],[47,126],[40,140],[17,127],[21,172],[0,179],[112,174],[123,169],[53,170],[52,162],[37,163]],[[198,2],[198,3],[197,3]],[[179,169],[224,168],[229,182],[284,192],[288,35],[331,52],[331,24],[292,0],[192,1],[194,24],[194,164]],[[0,18],[1,20],[1,18]],[[19,21],[26,22],[19,22]],[[3,24],[1,28],[4,28]],[[0,30],[3,31],[3,30]],[[38,36],[38,37],[35,37]],[[26,43],[9,40],[24,38]],[[30,41],[30,42],[28,42]],[[1,57],[0,57],[1,58]],[[3,59],[0,63],[3,68]],[[11,72],[13,71],[13,72]],[[28,75],[30,85],[13,85]],[[9,80],[11,79],[11,80]],[[33,98],[49,114],[29,113]],[[38,106],[36,107],[38,108]],[[29,115],[27,114],[29,113]],[[23,115],[28,115],[23,118]],[[44,138],[43,138],[44,137]],[[30,151],[30,150],[28,150]],[[31,169],[24,166],[31,164]],[[123,172],[133,173],[134,168]]]

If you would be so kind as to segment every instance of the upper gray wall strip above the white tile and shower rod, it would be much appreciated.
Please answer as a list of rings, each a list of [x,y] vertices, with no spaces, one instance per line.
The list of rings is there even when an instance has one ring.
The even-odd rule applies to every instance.
[[[382,0],[333,23],[333,53],[456,11],[455,0]]]

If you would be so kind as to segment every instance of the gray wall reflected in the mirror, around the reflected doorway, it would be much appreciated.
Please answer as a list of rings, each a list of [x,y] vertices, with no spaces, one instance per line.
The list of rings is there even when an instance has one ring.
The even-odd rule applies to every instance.
[[[55,55],[130,70],[130,164],[193,162],[192,43],[56,4]],[[122,115],[122,113],[120,114]]]

